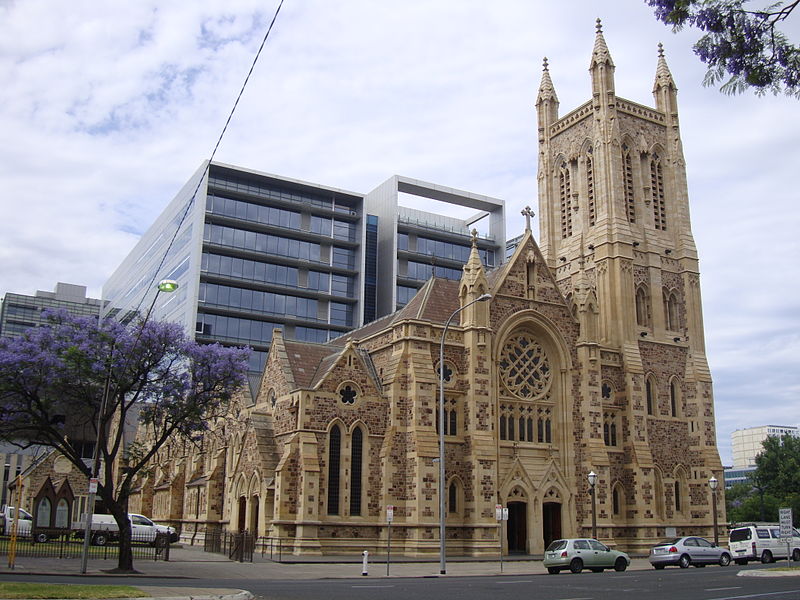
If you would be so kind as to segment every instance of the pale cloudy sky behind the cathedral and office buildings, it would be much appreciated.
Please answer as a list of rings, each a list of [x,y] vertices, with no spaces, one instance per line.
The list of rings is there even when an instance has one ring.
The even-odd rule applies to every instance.
[[[0,294],[66,281],[99,296],[209,157],[277,4],[0,0]],[[800,423],[800,102],[704,88],[697,34],[644,0],[288,0],[216,159],[357,192],[398,173],[502,198],[512,237],[537,207],[542,58],[561,114],[588,100],[597,17],[618,95],[653,104],[659,41],[679,87],[730,464],[734,429]]]

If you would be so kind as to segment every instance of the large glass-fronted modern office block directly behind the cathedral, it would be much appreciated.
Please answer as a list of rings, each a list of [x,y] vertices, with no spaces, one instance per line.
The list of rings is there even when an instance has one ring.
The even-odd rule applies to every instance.
[[[496,231],[479,247],[487,266],[502,258],[494,241],[504,240],[502,201],[397,176],[359,194],[206,166],[106,282],[105,312],[127,319],[152,311],[199,341],[250,346],[254,380],[275,328],[324,343],[393,312],[432,271],[460,278],[473,221],[399,207],[398,193],[491,206]],[[158,294],[161,279],[177,280],[177,292]]]

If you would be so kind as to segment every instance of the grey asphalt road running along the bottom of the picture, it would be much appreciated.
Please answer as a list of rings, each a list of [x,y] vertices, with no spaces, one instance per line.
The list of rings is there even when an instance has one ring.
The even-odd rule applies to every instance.
[[[381,579],[167,579],[139,577],[39,576],[51,583],[115,583],[180,587],[243,588],[264,600],[800,600],[800,577],[741,577],[748,567],[665,569],[577,575],[417,577]],[[5,573],[4,581],[31,581]]]

